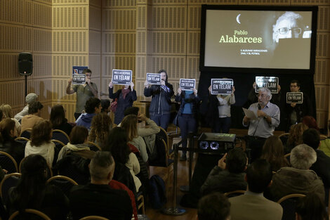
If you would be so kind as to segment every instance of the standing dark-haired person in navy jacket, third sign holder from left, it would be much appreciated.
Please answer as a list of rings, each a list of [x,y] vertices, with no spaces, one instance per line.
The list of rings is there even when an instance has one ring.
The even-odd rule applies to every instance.
[[[159,70],[161,75],[160,85],[151,85],[145,81],[145,97],[152,96],[149,114],[156,124],[165,131],[169,125],[170,112],[171,112],[171,97],[173,96],[173,86],[167,82],[168,76],[166,70]]]

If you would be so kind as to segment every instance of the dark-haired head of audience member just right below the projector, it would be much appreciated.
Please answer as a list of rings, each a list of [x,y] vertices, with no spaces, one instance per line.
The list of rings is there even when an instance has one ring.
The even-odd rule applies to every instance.
[[[225,157],[226,169],[230,173],[239,174],[245,171],[247,157],[242,148],[234,148],[228,151]]]

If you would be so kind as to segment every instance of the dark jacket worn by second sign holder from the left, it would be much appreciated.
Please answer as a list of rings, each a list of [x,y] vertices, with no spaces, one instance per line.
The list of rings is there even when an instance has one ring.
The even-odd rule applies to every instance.
[[[123,93],[121,93],[121,89],[114,93],[114,88],[109,87],[109,98],[117,98],[117,108],[116,112],[114,112],[114,124],[119,124],[124,118],[124,111],[126,108],[132,107],[133,102],[137,99],[137,96],[136,91],[133,89],[133,91],[130,91],[124,98]]]

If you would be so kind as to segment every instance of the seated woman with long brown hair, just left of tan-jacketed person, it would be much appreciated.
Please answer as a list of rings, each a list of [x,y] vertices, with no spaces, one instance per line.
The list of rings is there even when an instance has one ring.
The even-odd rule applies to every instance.
[[[138,135],[138,117],[136,117],[136,115],[125,116],[121,121],[121,128],[123,128],[128,134],[128,143],[131,143],[138,148],[143,161],[147,162],[147,147],[143,138]]]

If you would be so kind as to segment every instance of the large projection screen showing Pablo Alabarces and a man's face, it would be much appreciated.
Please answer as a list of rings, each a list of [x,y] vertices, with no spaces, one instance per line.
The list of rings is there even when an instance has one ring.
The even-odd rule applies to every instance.
[[[314,73],[317,7],[202,6],[201,71]]]

